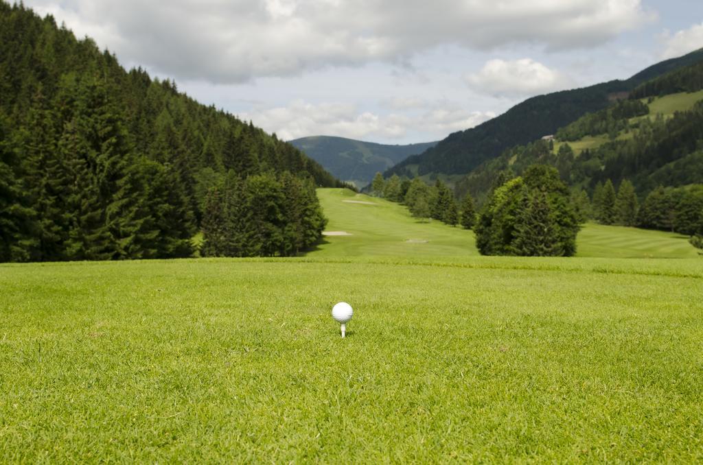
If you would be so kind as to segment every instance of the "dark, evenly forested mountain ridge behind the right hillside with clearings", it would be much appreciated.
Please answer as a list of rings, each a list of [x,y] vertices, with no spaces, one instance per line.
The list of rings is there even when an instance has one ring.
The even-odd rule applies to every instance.
[[[584,114],[626,98],[640,84],[703,60],[703,49],[650,66],[625,81],[615,80],[570,91],[529,98],[501,116],[451,134],[420,155],[385,172],[413,177],[427,173],[465,174],[515,145],[554,134]]]

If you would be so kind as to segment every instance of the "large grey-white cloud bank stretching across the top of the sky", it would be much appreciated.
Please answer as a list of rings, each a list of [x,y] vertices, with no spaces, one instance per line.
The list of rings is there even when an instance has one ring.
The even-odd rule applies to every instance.
[[[121,60],[217,83],[370,61],[436,46],[602,44],[652,18],[642,0],[27,0]]]

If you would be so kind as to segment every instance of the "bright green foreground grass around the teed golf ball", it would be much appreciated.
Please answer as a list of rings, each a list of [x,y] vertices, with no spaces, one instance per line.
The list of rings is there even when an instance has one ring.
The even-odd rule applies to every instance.
[[[4,463],[703,459],[701,260],[16,265],[0,287]]]

